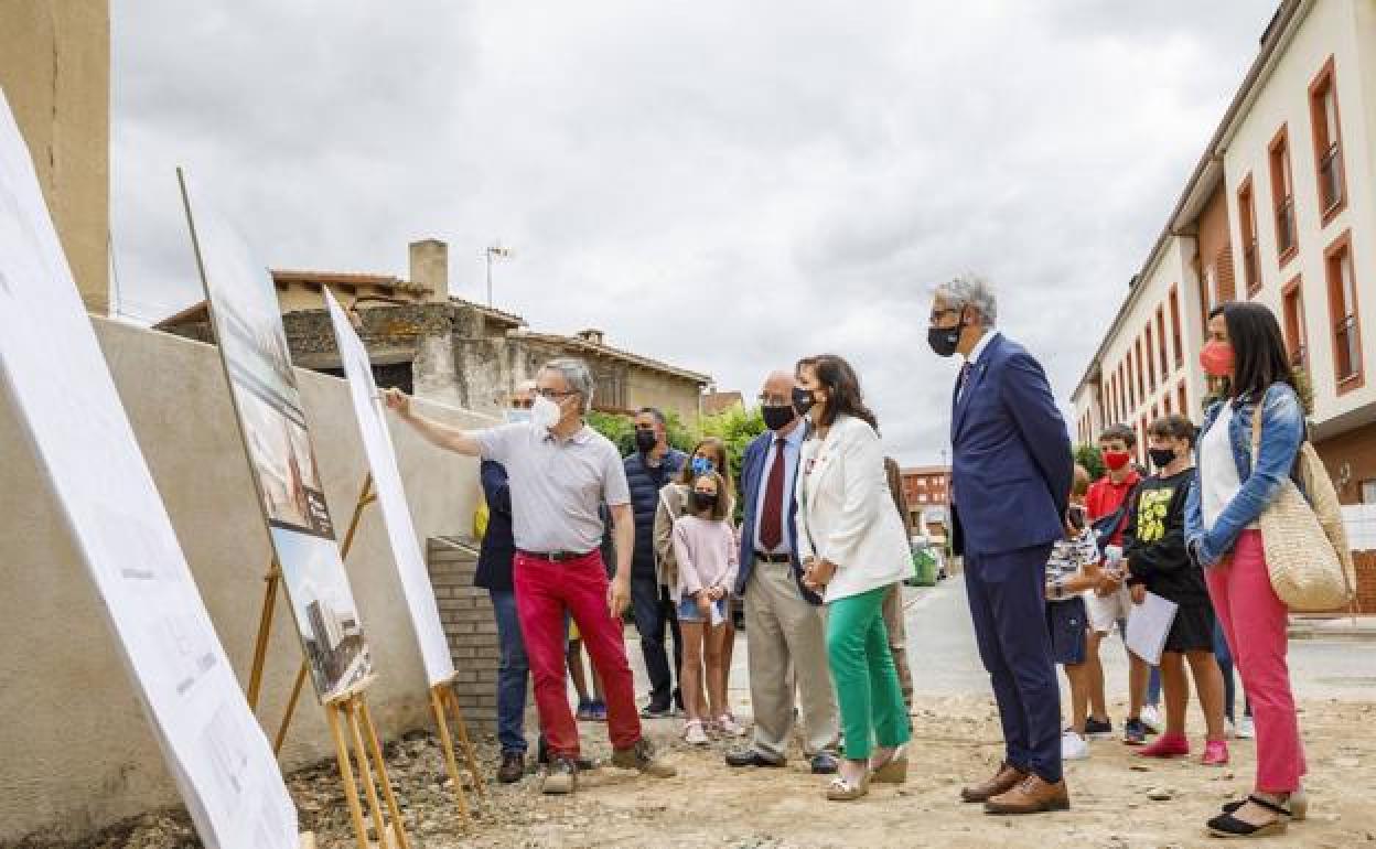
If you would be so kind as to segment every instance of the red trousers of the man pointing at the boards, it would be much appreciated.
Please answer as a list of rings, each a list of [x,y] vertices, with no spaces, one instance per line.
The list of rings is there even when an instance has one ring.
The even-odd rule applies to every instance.
[[[535,707],[550,755],[578,757],[578,722],[568,707],[566,611],[578,625],[601,676],[611,744],[634,746],[640,740],[636,685],[626,662],[621,621],[607,611],[607,567],[601,552],[557,563],[517,552],[513,579],[516,612],[535,683]]]

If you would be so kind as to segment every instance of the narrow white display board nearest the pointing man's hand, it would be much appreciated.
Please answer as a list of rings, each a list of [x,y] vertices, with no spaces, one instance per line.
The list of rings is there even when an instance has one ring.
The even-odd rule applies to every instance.
[[[373,380],[373,363],[367,358],[363,341],[354,332],[344,310],[326,289],[325,301],[334,325],[334,338],[338,343],[344,374],[348,377],[350,396],[354,399],[354,414],[358,417],[359,433],[363,438],[363,453],[373,472],[373,490],[383,506],[383,523],[392,544],[396,568],[402,577],[402,592],[406,607],[416,626],[416,637],[421,644],[421,658],[425,662],[425,677],[429,684],[442,684],[454,677],[454,662],[449,655],[449,641],[439,623],[439,605],[435,604],[435,589],[425,570],[425,557],[411,524],[411,511],[406,504],[406,490],[402,486],[402,472],[396,465],[396,449],[392,433],[387,429],[387,413]]]

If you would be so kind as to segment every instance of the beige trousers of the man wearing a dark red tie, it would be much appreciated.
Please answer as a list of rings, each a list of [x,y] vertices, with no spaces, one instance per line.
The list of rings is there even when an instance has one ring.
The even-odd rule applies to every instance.
[[[837,749],[837,694],[821,616],[821,607],[804,600],[790,564],[755,560],[746,585],[746,645],[754,749],[765,757],[787,757],[795,685],[802,702],[802,753],[812,757]]]

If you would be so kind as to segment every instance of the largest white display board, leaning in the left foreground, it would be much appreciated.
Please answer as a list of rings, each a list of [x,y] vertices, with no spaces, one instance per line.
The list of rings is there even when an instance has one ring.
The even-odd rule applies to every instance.
[[[0,384],[202,842],[296,849],[296,808],[191,579],[3,94]]]

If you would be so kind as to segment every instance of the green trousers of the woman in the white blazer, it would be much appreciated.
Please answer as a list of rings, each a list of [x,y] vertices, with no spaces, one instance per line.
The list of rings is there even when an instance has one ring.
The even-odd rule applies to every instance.
[[[870,757],[875,743],[903,746],[912,736],[899,673],[889,654],[881,586],[827,605],[827,660],[837,684],[846,757]]]

